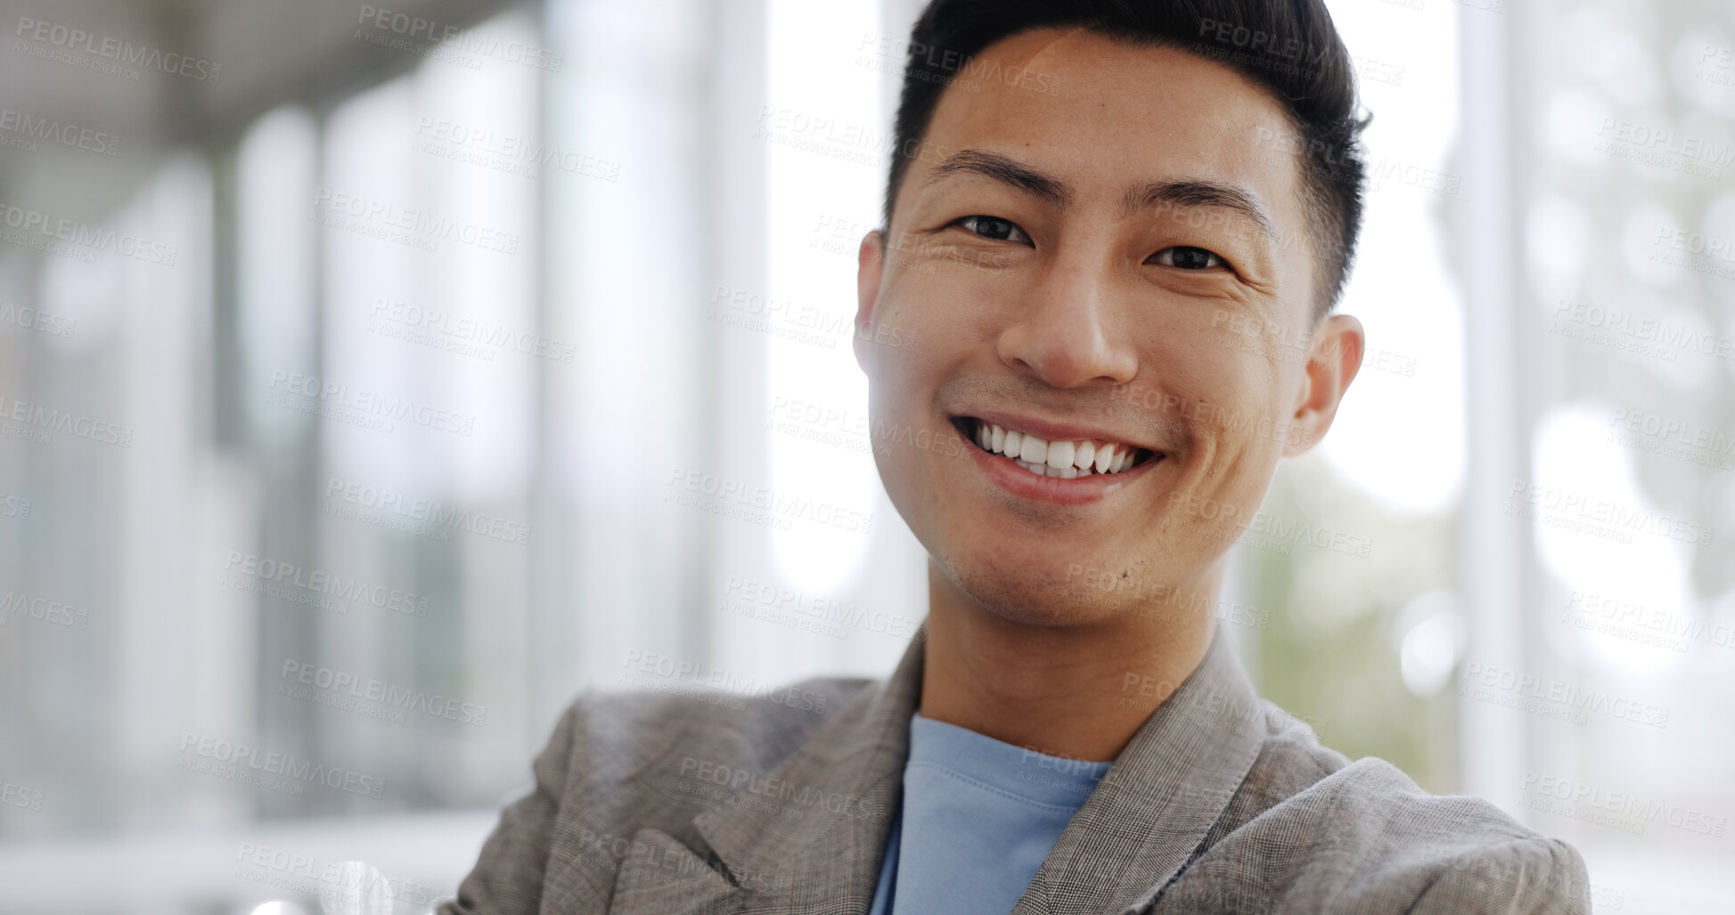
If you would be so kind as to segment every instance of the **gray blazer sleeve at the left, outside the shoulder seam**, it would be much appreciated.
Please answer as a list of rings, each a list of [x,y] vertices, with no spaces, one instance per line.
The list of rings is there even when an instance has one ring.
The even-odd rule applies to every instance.
[[[578,703],[573,703],[560,715],[531,766],[536,787],[501,811],[475,868],[458,885],[458,898],[441,903],[439,915],[533,915],[541,908],[543,872],[573,759],[576,712]]]

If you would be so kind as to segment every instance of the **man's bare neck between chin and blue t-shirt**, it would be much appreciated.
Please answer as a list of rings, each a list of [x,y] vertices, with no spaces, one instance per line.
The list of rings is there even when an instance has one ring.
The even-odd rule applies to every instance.
[[[921,715],[1043,754],[1112,760],[1211,644],[1221,569],[1169,611],[1008,620],[928,566]],[[1145,609],[1145,613],[1140,613]]]

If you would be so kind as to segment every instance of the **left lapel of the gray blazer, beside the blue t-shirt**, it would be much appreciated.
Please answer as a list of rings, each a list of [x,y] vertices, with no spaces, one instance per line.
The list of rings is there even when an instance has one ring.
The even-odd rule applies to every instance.
[[[703,849],[656,830],[659,866],[628,861],[611,912],[866,913],[904,792],[921,696],[923,623],[890,677],[840,707],[781,766],[692,818]],[[654,833],[654,835],[647,835]],[[678,877],[677,877],[678,873]]]

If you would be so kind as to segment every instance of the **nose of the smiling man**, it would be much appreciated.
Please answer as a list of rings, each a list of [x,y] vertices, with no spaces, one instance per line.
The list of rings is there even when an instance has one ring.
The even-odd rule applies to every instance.
[[[999,361],[1053,387],[1128,384],[1138,352],[1117,307],[1109,264],[1057,260],[1010,311]]]

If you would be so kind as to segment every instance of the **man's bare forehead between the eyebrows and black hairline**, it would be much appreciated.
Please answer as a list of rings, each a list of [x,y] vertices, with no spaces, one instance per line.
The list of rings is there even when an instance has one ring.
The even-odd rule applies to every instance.
[[[902,191],[947,155],[987,148],[1060,174],[1084,196],[1154,179],[1249,186],[1279,222],[1298,217],[1287,111],[1201,56],[1084,30],[1036,30],[977,54],[940,95]]]

